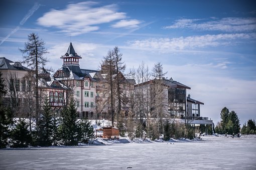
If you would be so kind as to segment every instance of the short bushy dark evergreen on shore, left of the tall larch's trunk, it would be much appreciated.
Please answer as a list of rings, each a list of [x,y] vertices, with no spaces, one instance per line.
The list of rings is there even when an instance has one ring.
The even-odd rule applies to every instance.
[[[21,120],[12,131],[11,147],[28,147],[32,143],[32,135],[28,130],[29,124]]]

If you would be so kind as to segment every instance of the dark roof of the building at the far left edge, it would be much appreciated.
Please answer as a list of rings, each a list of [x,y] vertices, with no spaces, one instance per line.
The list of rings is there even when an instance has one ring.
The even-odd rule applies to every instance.
[[[30,69],[23,66],[20,62],[11,61],[5,57],[0,57],[0,69],[14,69],[29,71]]]

